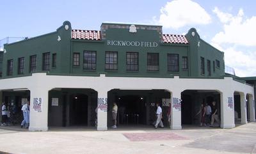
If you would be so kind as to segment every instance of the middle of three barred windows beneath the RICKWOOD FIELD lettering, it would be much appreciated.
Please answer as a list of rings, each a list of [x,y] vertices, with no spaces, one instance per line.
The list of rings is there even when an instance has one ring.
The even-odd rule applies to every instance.
[[[127,71],[138,71],[139,60],[138,52],[127,52],[126,53],[126,70]]]

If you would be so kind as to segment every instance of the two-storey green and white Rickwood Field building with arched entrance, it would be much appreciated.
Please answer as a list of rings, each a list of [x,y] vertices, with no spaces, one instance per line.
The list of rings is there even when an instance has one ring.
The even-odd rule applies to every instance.
[[[107,130],[113,102],[118,125],[150,125],[156,102],[163,115],[171,103],[171,129],[198,123],[200,104],[212,101],[221,128],[235,127],[235,109],[241,123],[255,122],[253,85],[225,74],[224,53],[194,28],[173,35],[158,25],[103,23],[100,31],[86,31],[66,21],[49,34],[4,45],[1,54],[0,100],[18,108],[17,116],[30,98],[29,130],[94,126],[96,117],[97,130]]]

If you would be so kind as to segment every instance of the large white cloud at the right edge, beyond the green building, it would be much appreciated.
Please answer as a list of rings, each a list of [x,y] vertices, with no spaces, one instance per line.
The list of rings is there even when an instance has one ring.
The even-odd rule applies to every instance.
[[[212,38],[212,45],[225,53],[225,65],[233,67],[237,76],[256,76],[256,17],[244,17],[243,9],[237,15],[225,13],[218,8],[212,10],[220,22],[223,30]],[[239,49],[237,48],[239,46]]]

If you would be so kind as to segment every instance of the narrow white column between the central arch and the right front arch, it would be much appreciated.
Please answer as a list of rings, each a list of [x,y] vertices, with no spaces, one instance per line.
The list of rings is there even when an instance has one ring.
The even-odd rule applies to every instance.
[[[171,93],[171,129],[182,129],[181,127],[181,92],[176,91]]]

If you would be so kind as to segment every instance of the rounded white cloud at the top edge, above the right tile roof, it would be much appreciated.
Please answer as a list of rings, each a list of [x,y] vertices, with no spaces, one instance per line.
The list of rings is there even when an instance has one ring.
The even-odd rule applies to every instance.
[[[200,6],[191,0],[175,0],[166,3],[161,8],[161,15],[157,24],[165,28],[178,29],[185,25],[205,25],[211,23],[210,15]]]

